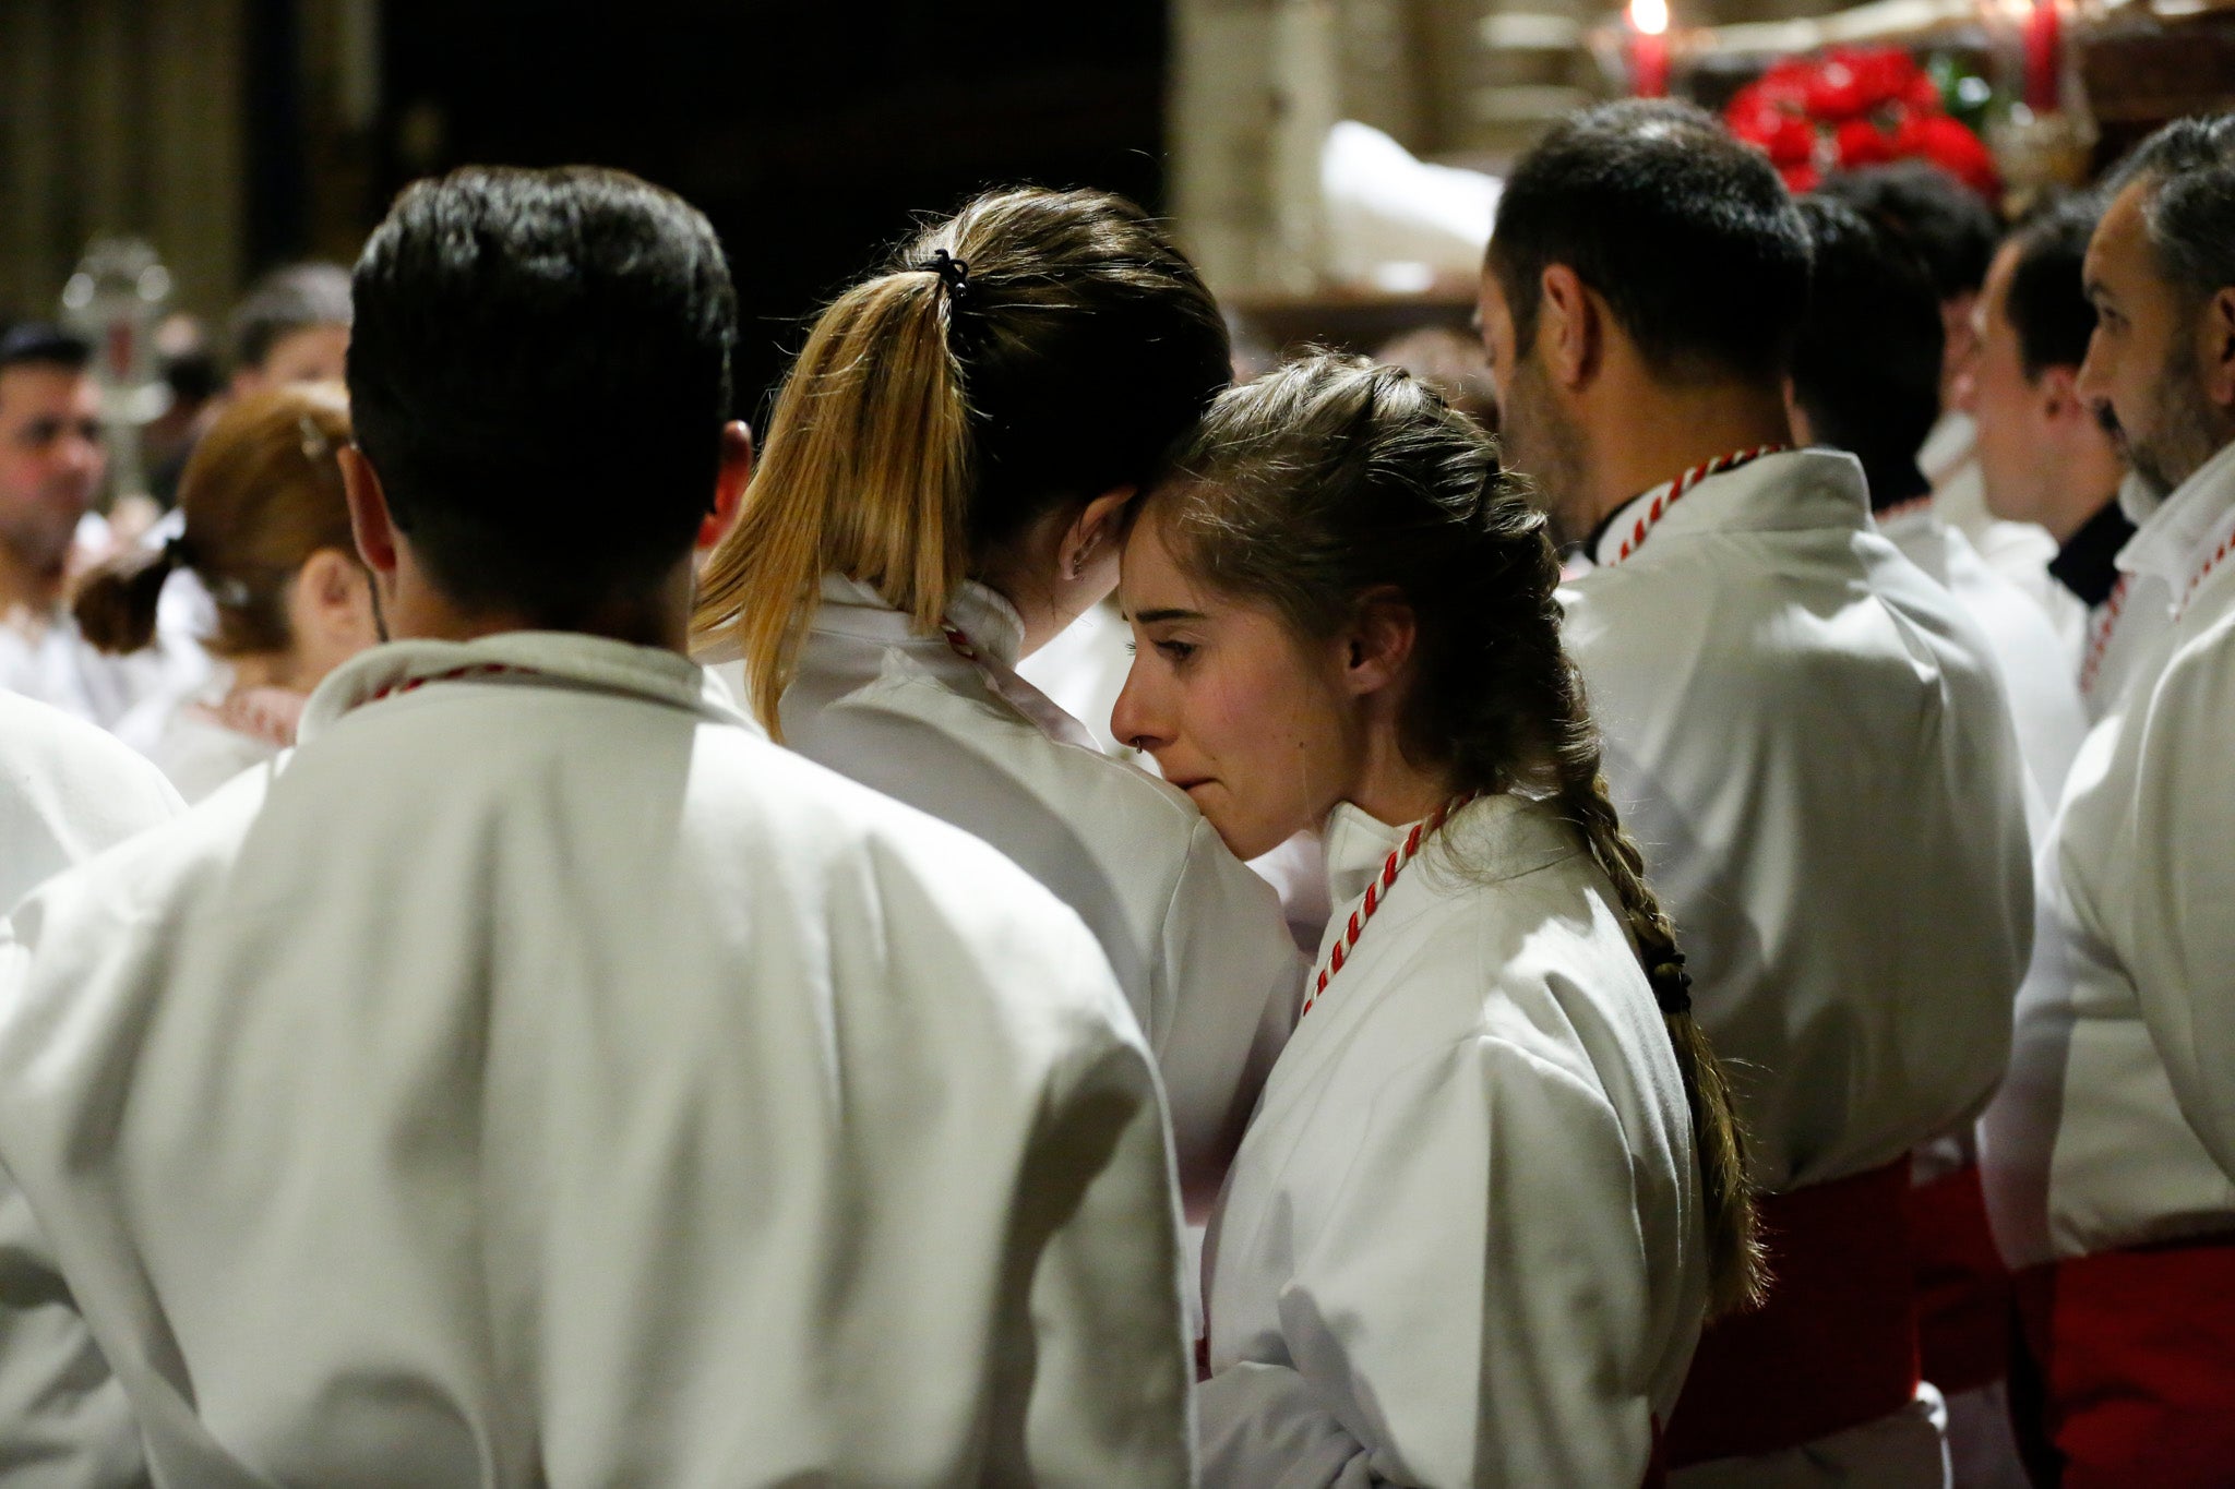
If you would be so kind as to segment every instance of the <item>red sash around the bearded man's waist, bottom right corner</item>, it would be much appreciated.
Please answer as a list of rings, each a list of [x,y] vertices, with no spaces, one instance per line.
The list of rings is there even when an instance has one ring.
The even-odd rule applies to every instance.
[[[2029,1266],[2014,1281],[2063,1489],[2235,1485],[2235,1237]]]

